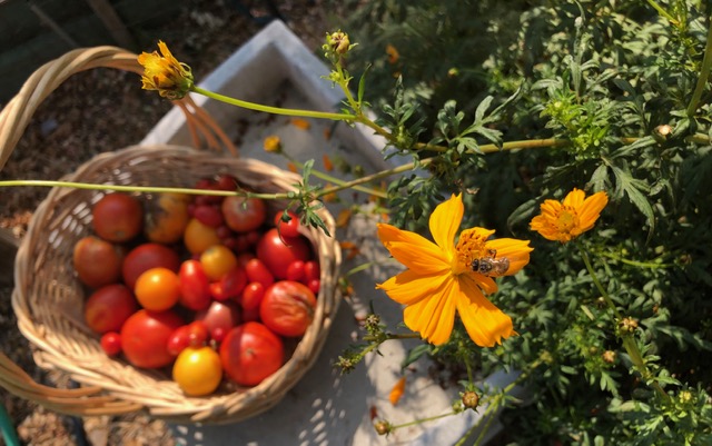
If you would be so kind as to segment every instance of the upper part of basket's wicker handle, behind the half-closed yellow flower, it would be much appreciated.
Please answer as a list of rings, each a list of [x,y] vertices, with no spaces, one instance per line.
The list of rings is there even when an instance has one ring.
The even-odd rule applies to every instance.
[[[0,170],[44,98],[70,76],[102,67],[136,73],[144,71],[137,61],[137,54],[121,48],[105,46],[67,52],[44,63],[30,76],[18,95],[0,111]],[[237,156],[237,149],[230,139],[212,118],[190,99],[189,95],[174,103],[186,115],[196,148],[201,146],[200,140],[204,139],[208,147],[228,149]]]

